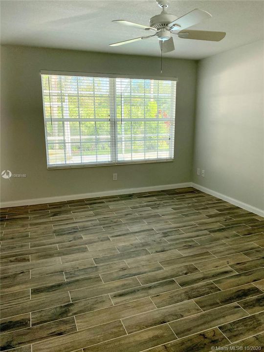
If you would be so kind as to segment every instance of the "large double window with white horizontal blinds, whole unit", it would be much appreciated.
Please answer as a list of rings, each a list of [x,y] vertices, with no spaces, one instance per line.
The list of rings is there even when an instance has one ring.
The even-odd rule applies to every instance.
[[[169,161],[176,81],[42,73],[48,168]]]

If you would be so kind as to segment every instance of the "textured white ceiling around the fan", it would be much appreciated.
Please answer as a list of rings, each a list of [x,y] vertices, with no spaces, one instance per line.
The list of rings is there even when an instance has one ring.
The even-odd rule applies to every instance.
[[[221,42],[202,42],[174,36],[176,50],[168,57],[201,59],[264,38],[264,1],[169,0],[177,17],[200,8],[212,18],[192,27],[225,31]],[[123,19],[148,24],[160,13],[155,0],[1,0],[1,44],[79,49],[159,56],[157,38],[123,46],[110,43],[145,35],[143,30],[111,23]]]

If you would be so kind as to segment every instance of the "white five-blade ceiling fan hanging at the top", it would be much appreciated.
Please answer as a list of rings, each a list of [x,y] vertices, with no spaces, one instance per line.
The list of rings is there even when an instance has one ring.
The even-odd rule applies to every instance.
[[[207,11],[195,9],[179,18],[176,18],[176,16],[166,11],[166,8],[168,7],[166,0],[156,0],[156,2],[158,6],[162,8],[162,11],[159,15],[153,16],[150,19],[149,26],[125,20],[112,21],[127,26],[144,29],[146,31],[153,31],[154,34],[146,37],[139,37],[123,42],[113,43],[110,44],[110,46],[129,44],[132,42],[140,41],[142,39],[157,37],[159,39],[161,51],[163,53],[167,53],[175,49],[173,37],[171,36],[172,34],[176,34],[179,38],[182,39],[196,39],[213,42],[219,42],[225,37],[225,32],[211,32],[186,29],[199,22],[203,22],[205,20],[210,19],[212,15],[209,14]]]

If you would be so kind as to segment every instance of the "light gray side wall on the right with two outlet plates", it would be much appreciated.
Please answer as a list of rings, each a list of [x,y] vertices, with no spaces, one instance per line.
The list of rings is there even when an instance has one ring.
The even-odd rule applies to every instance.
[[[264,51],[248,44],[198,64],[193,180],[264,209]],[[205,177],[196,169],[205,170]]]

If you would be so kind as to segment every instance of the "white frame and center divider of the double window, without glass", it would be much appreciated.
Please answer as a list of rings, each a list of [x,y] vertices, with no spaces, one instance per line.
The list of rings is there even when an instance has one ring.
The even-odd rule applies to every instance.
[[[112,73],[98,73],[98,72],[79,72],[79,71],[53,71],[53,70],[40,70],[40,75],[58,75],[58,76],[79,76],[79,77],[103,77],[103,78],[125,78],[125,79],[142,79],[142,80],[158,80],[158,81],[178,81],[177,77],[164,77],[164,76],[141,76],[141,75],[130,75],[130,74],[112,74]],[[111,82],[111,80],[110,80]],[[42,79],[41,79],[41,84],[42,84]],[[112,85],[110,84],[110,90],[112,89],[112,92],[115,91],[115,84]],[[114,96],[114,94],[113,94]],[[116,97],[115,97],[116,98]],[[56,169],[69,169],[69,168],[82,168],[82,167],[96,167],[96,166],[117,166],[117,165],[129,165],[129,164],[146,164],[146,163],[159,163],[159,162],[173,162],[174,161],[174,153],[172,158],[167,158],[167,159],[145,159],[145,160],[117,160],[117,155],[118,155],[118,148],[117,148],[117,143],[118,143],[118,133],[117,133],[117,122],[120,120],[119,118],[116,117],[115,113],[115,103],[113,104],[112,107],[110,107],[110,143],[115,143],[116,145],[112,148],[111,146],[111,159],[112,159],[112,154],[114,154],[114,161],[105,161],[101,163],[75,163],[75,164],[54,164],[50,165],[49,164],[49,155],[48,155],[48,144],[47,144],[47,135],[46,135],[46,126],[45,126],[45,107],[44,107],[44,95],[43,95],[43,86],[42,86],[42,99],[43,99],[43,114],[44,114],[44,133],[45,133],[45,152],[46,152],[46,163],[47,163],[47,169],[48,170],[56,170]],[[175,97],[173,98],[175,100],[175,106],[174,106],[174,111],[176,115],[176,87],[175,87]],[[53,120],[56,120],[53,118]],[[61,120],[61,119],[58,119]],[[86,120],[86,119],[84,119]],[[137,119],[133,119],[136,121]],[[139,119],[140,120],[140,119]],[[142,118],[141,120],[144,120]],[[157,121],[160,121],[160,118],[157,118]],[[166,119],[167,120],[167,119]],[[90,121],[90,119],[89,119]],[[154,121],[152,119],[152,121]],[[174,121],[176,121],[176,116],[174,117]],[[174,129],[174,136],[175,136],[175,127],[176,124],[171,126],[171,129]],[[113,134],[111,134],[111,131],[113,131]],[[175,147],[175,138],[174,138],[174,143],[173,143],[173,148]]]

